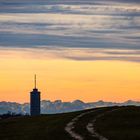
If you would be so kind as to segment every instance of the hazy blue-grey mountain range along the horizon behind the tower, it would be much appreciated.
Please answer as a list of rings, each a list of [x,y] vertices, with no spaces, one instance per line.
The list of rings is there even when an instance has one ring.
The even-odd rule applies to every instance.
[[[51,102],[49,100],[41,101],[41,113],[42,114],[55,114],[55,113],[64,113],[64,112],[72,112],[96,107],[106,107],[106,106],[128,106],[135,105],[140,106],[140,102],[128,100],[123,103],[116,102],[105,102],[105,101],[97,101],[85,103],[80,100],[75,100],[73,102],[62,102],[61,100],[56,100]],[[22,113],[29,114],[30,104],[24,103],[19,104],[16,102],[0,102],[0,114],[5,114],[7,112],[13,113]]]

